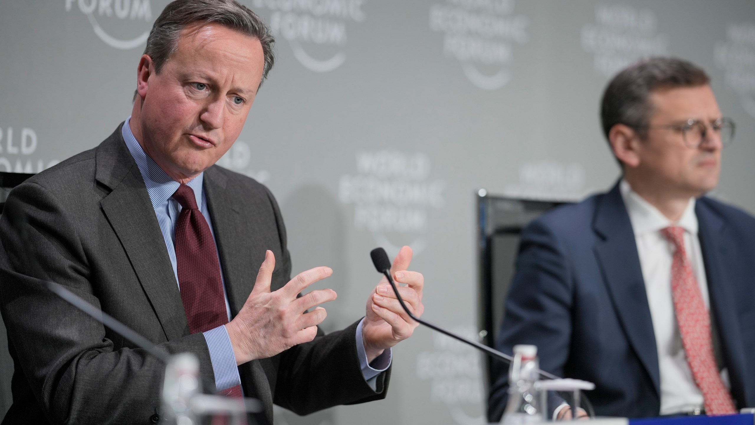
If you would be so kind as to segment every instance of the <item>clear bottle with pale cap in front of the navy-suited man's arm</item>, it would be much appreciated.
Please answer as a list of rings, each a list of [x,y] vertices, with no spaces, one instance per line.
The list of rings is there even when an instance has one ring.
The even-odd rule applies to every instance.
[[[537,346],[514,346],[514,360],[509,367],[509,400],[501,419],[504,425],[543,421],[540,393],[535,389],[539,369]]]

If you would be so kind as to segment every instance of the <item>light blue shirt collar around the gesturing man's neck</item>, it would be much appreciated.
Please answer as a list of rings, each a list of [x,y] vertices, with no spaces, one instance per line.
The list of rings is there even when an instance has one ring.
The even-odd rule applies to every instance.
[[[152,200],[153,208],[165,206],[168,203],[173,194],[178,190],[180,183],[173,180],[165,173],[165,171],[157,165],[157,163],[147,155],[142,149],[141,145],[131,133],[131,127],[128,123],[131,121],[129,116],[121,129],[121,135],[126,142],[128,151],[131,152],[131,157],[134,157],[134,161],[139,167],[144,185],[149,193],[149,199]],[[188,185],[194,191],[194,197],[196,197],[196,203],[202,201],[202,181],[204,181],[205,173],[200,172],[195,178],[192,178],[186,185]]]

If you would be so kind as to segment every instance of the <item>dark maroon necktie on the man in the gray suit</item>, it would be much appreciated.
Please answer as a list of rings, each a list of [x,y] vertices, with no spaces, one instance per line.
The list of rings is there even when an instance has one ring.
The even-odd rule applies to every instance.
[[[173,198],[183,207],[175,230],[176,268],[183,312],[190,333],[205,332],[228,323],[217,249],[210,226],[196,206],[192,188],[180,185]],[[241,386],[227,389],[223,394],[241,397]]]

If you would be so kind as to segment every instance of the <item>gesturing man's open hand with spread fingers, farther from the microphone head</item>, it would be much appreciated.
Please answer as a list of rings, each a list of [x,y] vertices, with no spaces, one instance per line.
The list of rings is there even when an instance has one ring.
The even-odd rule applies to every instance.
[[[292,346],[313,340],[317,325],[325,320],[327,313],[322,307],[306,314],[304,312],[337,297],[335,291],[330,289],[313,290],[297,297],[310,284],[333,274],[329,267],[310,268],[284,287],[270,292],[275,267],[276,258],[273,251],[268,250],[254,289],[239,314],[226,324],[236,365],[257,358],[273,357]]]

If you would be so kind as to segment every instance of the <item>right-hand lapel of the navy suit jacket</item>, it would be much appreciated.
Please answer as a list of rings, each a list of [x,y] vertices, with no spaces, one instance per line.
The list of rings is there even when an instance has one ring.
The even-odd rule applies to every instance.
[[[700,247],[705,263],[710,309],[716,318],[718,334],[723,346],[726,368],[729,369],[729,381],[732,384],[732,396],[740,404],[747,400],[744,393],[744,346],[742,346],[739,321],[732,294],[732,278],[729,276],[726,259],[736,254],[734,240],[729,234],[720,216],[717,216],[701,199],[695,205],[695,215],[698,217]]]

